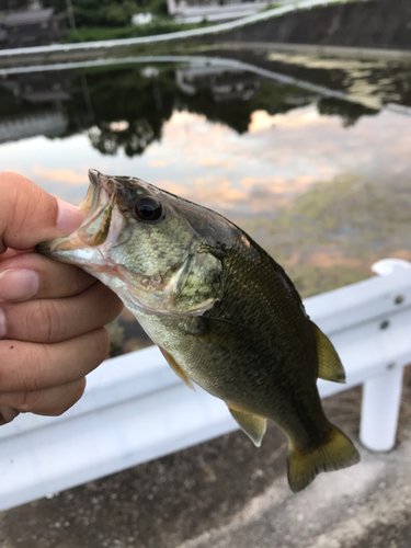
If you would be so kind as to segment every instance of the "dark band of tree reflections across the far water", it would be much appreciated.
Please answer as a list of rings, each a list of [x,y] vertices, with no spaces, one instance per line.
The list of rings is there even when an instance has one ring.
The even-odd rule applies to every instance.
[[[58,127],[42,132],[38,123],[38,135],[61,138],[87,132],[91,145],[103,155],[116,155],[119,150],[128,157],[141,155],[148,145],[161,138],[162,126],[175,110],[205,115],[238,134],[248,130],[251,115],[258,110],[273,115],[316,102],[321,114],[341,116],[344,126],[377,112],[221,67],[169,64],[52,75],[52,79],[49,72],[36,72],[1,80],[0,126],[33,114],[41,118],[42,113],[46,116],[52,112],[59,115]],[[15,138],[19,134],[12,139]],[[1,140],[8,139],[0,135]]]

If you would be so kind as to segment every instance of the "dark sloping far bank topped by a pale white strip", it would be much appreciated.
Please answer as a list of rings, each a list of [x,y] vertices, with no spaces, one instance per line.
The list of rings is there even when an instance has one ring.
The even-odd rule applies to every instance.
[[[312,5],[315,2],[304,0],[297,10],[289,5],[275,8],[229,23],[156,36],[4,49],[0,50],[0,68],[145,53],[161,55],[164,49],[189,54],[199,46],[207,49],[221,43],[269,43],[283,49],[289,45],[294,50],[310,45],[321,47],[322,53],[329,47],[354,48],[351,55],[369,55],[367,50],[372,49],[400,52],[392,55],[411,52],[411,0],[332,0],[326,7]]]

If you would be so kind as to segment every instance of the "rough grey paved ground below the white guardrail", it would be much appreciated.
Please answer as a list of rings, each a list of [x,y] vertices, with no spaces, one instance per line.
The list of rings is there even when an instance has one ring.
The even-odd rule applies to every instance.
[[[356,438],[359,389],[328,399]],[[0,548],[410,548],[411,368],[398,446],[305,492],[285,480],[285,439],[240,432],[2,514]]]

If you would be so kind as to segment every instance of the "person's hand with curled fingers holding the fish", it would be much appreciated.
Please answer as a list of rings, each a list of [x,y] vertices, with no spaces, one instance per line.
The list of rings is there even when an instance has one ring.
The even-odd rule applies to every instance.
[[[107,287],[34,252],[76,230],[84,213],[15,173],[0,173],[0,424],[19,412],[58,415],[109,353],[103,328],[122,310]]]

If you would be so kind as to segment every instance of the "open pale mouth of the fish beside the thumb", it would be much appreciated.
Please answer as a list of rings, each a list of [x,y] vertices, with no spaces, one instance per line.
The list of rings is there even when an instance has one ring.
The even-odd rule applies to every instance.
[[[94,169],[89,170],[89,181],[85,198],[79,206],[87,213],[81,226],[70,236],[38,244],[37,251],[49,256],[58,253],[62,259],[62,252],[114,246],[123,226],[116,205],[117,184],[114,178]]]

